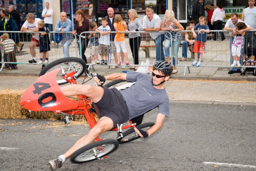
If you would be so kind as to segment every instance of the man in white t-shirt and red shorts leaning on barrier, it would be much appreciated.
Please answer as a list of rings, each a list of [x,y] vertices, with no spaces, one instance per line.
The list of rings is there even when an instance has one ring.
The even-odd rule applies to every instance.
[[[21,26],[20,31],[22,32],[38,32],[38,26],[37,22],[41,19],[37,19],[33,13],[28,13],[27,20],[25,23]],[[29,60],[29,63],[36,63],[36,51],[35,47],[39,47],[39,36],[37,33],[31,33],[31,43],[29,44],[30,53],[32,55],[32,60]]]

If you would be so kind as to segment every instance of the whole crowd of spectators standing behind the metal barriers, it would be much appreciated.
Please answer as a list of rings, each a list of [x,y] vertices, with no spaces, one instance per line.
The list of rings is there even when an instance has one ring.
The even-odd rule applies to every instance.
[[[224,30],[230,31],[230,71],[228,74],[240,72],[241,65],[244,64],[246,58],[248,45],[253,48],[256,46],[256,33],[246,32],[256,29],[255,0],[248,1],[248,4],[249,7],[245,8],[242,12],[242,19],[238,19],[238,15],[232,13],[231,18],[228,19],[224,27]],[[42,11],[43,20],[36,18],[33,13],[28,13],[27,20],[22,26],[20,24],[19,14],[15,11],[13,5],[11,5],[9,9],[3,8],[1,10],[1,31],[6,31],[7,33],[8,31],[22,31],[31,34],[32,38],[29,44],[29,49],[32,58],[28,61],[29,63],[47,64],[49,62],[48,51],[51,50],[49,45],[50,43],[54,43],[54,36],[51,33],[53,31],[53,10],[49,7],[48,2],[45,3],[45,7],[46,8]],[[207,11],[207,17],[205,16],[205,11]],[[101,26],[98,27],[94,22],[91,24],[89,23],[89,20],[82,10],[77,10],[74,28],[72,28],[72,21],[67,18],[67,14],[65,12],[60,13],[60,20],[54,27],[54,31],[62,32],[59,33],[59,36],[63,37],[61,45],[64,57],[69,57],[69,46],[74,40],[74,35],[79,36],[82,32],[89,32],[89,29],[91,28],[92,31],[90,33],[83,33],[81,35],[81,41],[77,41],[78,39],[76,40],[81,57],[86,63],[88,62],[87,57],[85,56],[85,50],[90,41],[92,64],[107,65],[108,56],[113,54],[116,63],[112,66],[113,69],[119,67],[121,64],[123,69],[126,68],[125,65],[130,65],[124,41],[124,32],[126,32],[129,37],[133,63],[138,65],[141,34],[136,32],[145,31],[149,32],[151,40],[155,42],[156,61],[166,60],[168,63],[172,63],[173,74],[175,74],[178,72],[176,65],[180,45],[182,45],[182,58],[180,61],[188,61],[187,50],[189,48],[192,53],[191,56],[194,58],[192,65],[200,67],[203,62],[203,54],[206,53],[206,41],[211,39],[217,41],[218,39],[218,33],[214,32],[214,35],[212,36],[210,30],[222,30],[222,20],[225,17],[225,11],[222,9],[221,3],[216,4],[216,6],[213,4],[203,6],[203,0],[198,0],[196,4],[193,5],[189,26],[186,28],[186,31],[190,32],[185,33],[185,41],[181,42],[182,38],[180,31],[184,30],[184,27],[177,19],[175,19],[172,10],[165,11],[164,19],[162,21],[162,19],[154,13],[152,8],[146,8],[146,15],[144,16],[142,23],[134,9],[128,11],[128,23],[126,23],[120,15],[114,14],[113,8],[108,8],[107,12],[108,16],[101,19]],[[206,22],[208,22],[208,24],[206,24]],[[237,24],[239,22],[243,22],[245,25],[238,26]],[[38,31],[43,33],[32,33]],[[13,44],[14,42],[14,46],[10,45],[12,48],[7,48],[8,50],[4,52],[4,60],[8,62],[16,62],[15,53],[19,49],[20,51],[22,50],[23,43],[20,42],[18,33],[9,32],[8,34],[9,37],[7,38],[6,35],[3,37],[3,33],[0,33],[1,40],[4,38],[3,43],[10,42],[10,44]],[[13,42],[7,41],[8,39],[13,40]],[[225,39],[223,32],[220,32],[220,40],[224,41]],[[6,43],[3,43],[2,46],[7,46]],[[37,46],[40,49],[39,62],[36,59],[35,47]],[[170,60],[170,48],[174,55],[172,61]],[[12,55],[10,53],[12,53]],[[99,56],[101,59],[99,59]],[[5,68],[12,70],[17,69],[18,67],[15,63],[9,63]],[[131,67],[130,69],[136,71],[138,66]]]

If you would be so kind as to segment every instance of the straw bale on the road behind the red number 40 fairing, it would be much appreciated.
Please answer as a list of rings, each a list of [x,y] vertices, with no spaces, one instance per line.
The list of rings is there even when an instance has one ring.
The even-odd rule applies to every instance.
[[[63,120],[64,116],[53,112],[38,111],[34,112],[21,108],[20,99],[25,90],[0,90],[0,118],[2,119],[47,119]],[[97,115],[94,114],[94,116]],[[87,123],[84,115],[72,115],[75,121]]]

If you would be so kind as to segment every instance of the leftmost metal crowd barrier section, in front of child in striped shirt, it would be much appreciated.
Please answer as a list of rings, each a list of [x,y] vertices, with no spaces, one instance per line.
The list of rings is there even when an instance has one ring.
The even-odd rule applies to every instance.
[[[16,59],[17,59],[17,64],[37,64],[40,61],[40,56],[39,56],[39,47],[35,47],[35,52],[36,52],[36,61],[37,63],[29,63],[28,60],[32,60],[32,55],[30,53],[30,48],[29,48],[29,44],[31,43],[31,38],[32,35],[31,33],[37,34],[37,33],[41,33],[41,32],[17,32],[17,31],[0,31],[0,33],[10,33],[10,39],[16,40],[17,37],[16,36],[12,36],[12,33],[19,33],[19,41],[21,42],[22,45],[22,50],[20,51],[20,45],[16,47]],[[43,32],[42,32],[43,33]],[[70,33],[72,34],[72,32],[50,32],[50,33]],[[49,35],[49,38],[51,40],[51,34]],[[76,40],[76,36],[74,38],[74,40]],[[75,43],[75,41],[71,41],[71,45],[69,46],[69,56],[72,57],[78,57],[78,53],[77,53],[77,45]],[[68,40],[69,41],[69,40]],[[64,57],[64,53],[63,53],[63,49],[62,49],[62,45],[61,42],[59,44],[57,44],[56,42],[51,43],[50,44],[50,51],[48,51],[49,54],[49,62],[55,61],[57,59],[63,58]],[[0,69],[0,71],[2,71],[3,67],[5,64],[8,64],[10,62],[8,62],[6,60],[6,58],[4,57],[4,48],[1,47],[1,57],[0,57],[0,63],[2,64],[2,67]]]

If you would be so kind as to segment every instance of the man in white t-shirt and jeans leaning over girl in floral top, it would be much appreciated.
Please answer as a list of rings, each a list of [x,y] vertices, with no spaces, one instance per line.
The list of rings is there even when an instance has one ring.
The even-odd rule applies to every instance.
[[[227,23],[225,24],[225,27],[224,27],[224,30],[228,30],[228,31],[231,31],[229,32],[229,35],[230,35],[230,41],[229,41],[229,49],[230,49],[230,65],[234,62],[233,61],[233,57],[232,57],[232,43],[233,43],[233,40],[234,40],[234,36],[236,34],[238,34],[238,32],[236,32],[236,24],[239,23],[239,22],[244,22],[242,20],[240,20],[238,18],[238,14],[237,13],[232,13],[230,15],[230,19],[228,19]],[[245,23],[246,24],[246,23]],[[248,31],[248,30],[253,30],[253,27],[252,26],[249,26],[247,25],[247,28],[245,29],[242,29],[242,30],[239,30],[239,33],[242,33],[243,31]],[[244,49],[242,48],[241,50],[241,56],[243,56],[243,52],[244,52]],[[240,58],[240,63],[242,63],[242,58]],[[236,72],[241,72],[241,68],[238,68],[238,67],[232,67],[229,69],[228,71],[228,74],[233,74],[233,73],[236,73]]]

